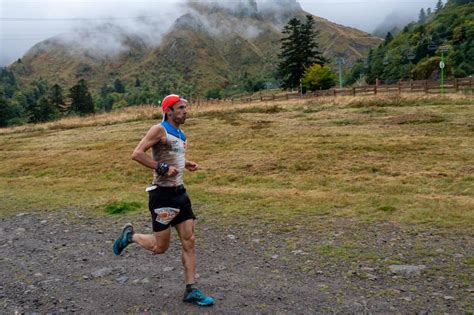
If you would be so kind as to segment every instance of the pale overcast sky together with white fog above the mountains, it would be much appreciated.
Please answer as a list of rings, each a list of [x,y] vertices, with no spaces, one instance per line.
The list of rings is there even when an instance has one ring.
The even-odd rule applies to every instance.
[[[123,36],[139,35],[156,45],[177,18],[199,16],[199,6],[226,8],[236,14],[269,15],[281,23],[292,10],[303,10],[342,25],[372,32],[390,13],[416,19],[420,8],[434,7],[435,0],[244,0],[244,1],[115,1],[115,0],[2,0],[0,3],[0,65],[23,56],[34,44],[53,36],[98,54],[124,49]],[[203,27],[225,31],[199,19]],[[248,36],[260,30],[246,28]],[[124,35],[125,34],[125,35]]]

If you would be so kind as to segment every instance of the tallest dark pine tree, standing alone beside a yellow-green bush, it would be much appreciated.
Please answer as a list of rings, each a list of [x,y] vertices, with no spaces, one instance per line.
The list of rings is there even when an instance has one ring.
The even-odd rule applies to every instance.
[[[326,60],[318,50],[317,32],[314,30],[314,19],[306,16],[306,22],[297,18],[291,19],[282,31],[286,37],[281,39],[281,53],[278,73],[282,87],[291,89],[299,87],[306,68],[313,64],[324,65]]]

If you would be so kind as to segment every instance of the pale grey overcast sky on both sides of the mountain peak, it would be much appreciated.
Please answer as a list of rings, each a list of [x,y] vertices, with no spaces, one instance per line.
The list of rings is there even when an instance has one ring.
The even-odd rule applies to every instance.
[[[265,1],[265,0],[261,0]],[[269,0],[268,0],[269,1]],[[148,16],[169,25],[183,13],[176,0],[0,0],[0,65],[23,56],[35,43],[74,32],[81,24],[129,23]],[[270,1],[271,2],[271,1]],[[302,8],[338,24],[372,32],[393,13],[416,19],[436,0],[299,0]],[[80,20],[85,19],[85,20]]]

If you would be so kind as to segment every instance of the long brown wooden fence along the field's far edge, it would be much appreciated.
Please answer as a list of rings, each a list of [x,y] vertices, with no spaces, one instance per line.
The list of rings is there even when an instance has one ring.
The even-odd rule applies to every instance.
[[[329,90],[319,90],[307,92],[303,95],[299,92],[274,93],[274,94],[252,94],[239,95],[230,99],[196,99],[193,102],[197,105],[219,104],[219,103],[253,103],[253,102],[272,102],[290,99],[314,98],[321,96],[356,96],[356,95],[377,95],[382,93],[402,94],[402,93],[425,93],[440,94],[441,86],[439,81],[420,80],[420,81],[399,81],[396,84],[365,85],[352,88],[333,88]],[[454,79],[444,82],[444,93],[458,93],[460,91],[473,91],[474,78]]]

